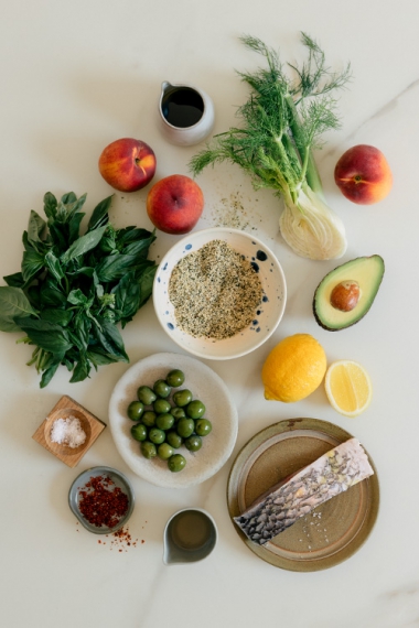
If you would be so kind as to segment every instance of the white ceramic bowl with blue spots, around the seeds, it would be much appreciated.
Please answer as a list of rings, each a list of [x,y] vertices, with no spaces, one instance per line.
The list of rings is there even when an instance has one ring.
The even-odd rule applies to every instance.
[[[169,299],[169,282],[176,263],[213,240],[223,240],[245,256],[258,272],[262,285],[262,302],[255,312],[253,323],[232,338],[223,340],[194,337],[182,331]],[[206,359],[238,358],[260,347],[281,321],[286,301],[286,278],[276,256],[261,240],[239,229],[214,227],[187,235],[163,257],[154,278],[154,310],[163,329],[180,347]]]

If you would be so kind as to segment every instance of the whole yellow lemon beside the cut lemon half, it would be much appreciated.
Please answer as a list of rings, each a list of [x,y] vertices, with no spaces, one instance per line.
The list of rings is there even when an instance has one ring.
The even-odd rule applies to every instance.
[[[310,334],[283,338],[262,367],[265,399],[290,403],[304,399],[321,385],[327,361],[321,344]]]

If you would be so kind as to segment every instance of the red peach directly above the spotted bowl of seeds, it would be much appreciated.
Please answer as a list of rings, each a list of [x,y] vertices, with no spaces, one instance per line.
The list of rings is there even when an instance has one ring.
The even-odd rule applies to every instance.
[[[147,196],[150,220],[165,234],[189,234],[204,209],[201,187],[189,176],[172,174],[154,183]]]

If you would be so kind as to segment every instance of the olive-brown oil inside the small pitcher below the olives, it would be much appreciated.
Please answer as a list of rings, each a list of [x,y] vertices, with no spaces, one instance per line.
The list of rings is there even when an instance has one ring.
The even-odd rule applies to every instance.
[[[180,512],[170,526],[172,541],[182,550],[201,550],[211,540],[208,518],[197,510]]]

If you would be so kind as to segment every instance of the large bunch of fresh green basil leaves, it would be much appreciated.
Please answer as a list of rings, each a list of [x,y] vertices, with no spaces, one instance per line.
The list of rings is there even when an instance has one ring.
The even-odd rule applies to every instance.
[[[82,381],[92,367],[129,361],[123,328],[152,291],[157,264],[148,260],[154,232],[109,223],[111,197],[99,203],[80,236],[86,194],[44,196],[45,221],[31,212],[23,232],[21,272],[0,288],[0,329],[24,332],[18,343],[36,345],[29,365],[42,372],[41,388],[58,366]]]

